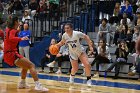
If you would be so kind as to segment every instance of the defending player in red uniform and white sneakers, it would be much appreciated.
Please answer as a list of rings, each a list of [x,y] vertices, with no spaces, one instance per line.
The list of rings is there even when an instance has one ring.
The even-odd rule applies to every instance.
[[[4,62],[10,66],[18,66],[22,68],[21,71],[21,81],[18,85],[18,88],[28,88],[29,86],[26,84],[26,75],[27,71],[30,71],[34,82],[35,82],[35,90],[39,91],[48,91],[47,88],[43,87],[41,83],[39,83],[39,79],[37,76],[37,72],[35,70],[35,65],[28,60],[27,58],[23,57],[18,53],[18,42],[22,40],[28,40],[28,37],[18,37],[19,22],[18,17],[11,16],[8,20],[8,28],[6,29],[6,38],[4,41]],[[18,30],[17,30],[18,29]]]

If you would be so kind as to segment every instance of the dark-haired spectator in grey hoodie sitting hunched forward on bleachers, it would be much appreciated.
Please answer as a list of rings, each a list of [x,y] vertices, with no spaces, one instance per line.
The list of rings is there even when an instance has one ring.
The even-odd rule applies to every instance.
[[[101,24],[99,26],[99,31],[97,34],[97,42],[99,42],[100,38],[106,39],[107,45],[109,45],[110,42],[110,26],[108,24],[108,21],[106,18],[103,18],[101,21]]]

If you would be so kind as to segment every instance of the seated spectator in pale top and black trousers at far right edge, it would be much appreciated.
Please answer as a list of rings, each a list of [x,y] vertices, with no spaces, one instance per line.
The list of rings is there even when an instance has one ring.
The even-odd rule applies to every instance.
[[[139,26],[135,26],[134,27],[134,34],[133,34],[133,37],[132,37],[132,42],[131,42],[131,47],[130,47],[130,53],[135,53],[135,44],[136,44],[136,41],[137,41],[137,38],[139,36],[139,33],[140,33],[140,28]]]

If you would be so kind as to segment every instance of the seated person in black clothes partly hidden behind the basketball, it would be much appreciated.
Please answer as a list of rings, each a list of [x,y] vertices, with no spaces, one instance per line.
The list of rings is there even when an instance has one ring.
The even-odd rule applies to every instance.
[[[56,44],[56,40],[55,39],[52,39],[51,40],[51,43],[50,43],[50,45],[55,45]],[[55,57],[56,57],[56,55],[51,55],[50,54],[50,52],[49,52],[49,49],[47,48],[46,50],[45,50],[45,55],[44,55],[44,57],[41,59],[41,73],[42,72],[44,72],[44,67],[46,66],[46,62],[48,62],[48,63],[50,63],[50,62],[52,62],[52,61],[54,61],[55,60]],[[50,68],[50,73],[53,73],[54,71],[53,71],[53,68]]]

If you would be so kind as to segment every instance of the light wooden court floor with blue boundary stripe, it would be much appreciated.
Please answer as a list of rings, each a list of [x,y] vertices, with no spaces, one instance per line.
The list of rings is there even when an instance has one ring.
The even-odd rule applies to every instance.
[[[34,82],[28,75],[29,89],[17,89],[20,81],[20,69],[0,69],[0,93],[140,93],[140,81],[131,79],[112,80],[111,78],[92,78],[93,86],[81,82],[73,85],[67,82],[67,75],[39,74],[40,82],[49,88],[48,92],[34,90]],[[58,77],[63,77],[58,78]],[[65,81],[66,78],[66,81]],[[76,80],[83,80],[77,76]]]

